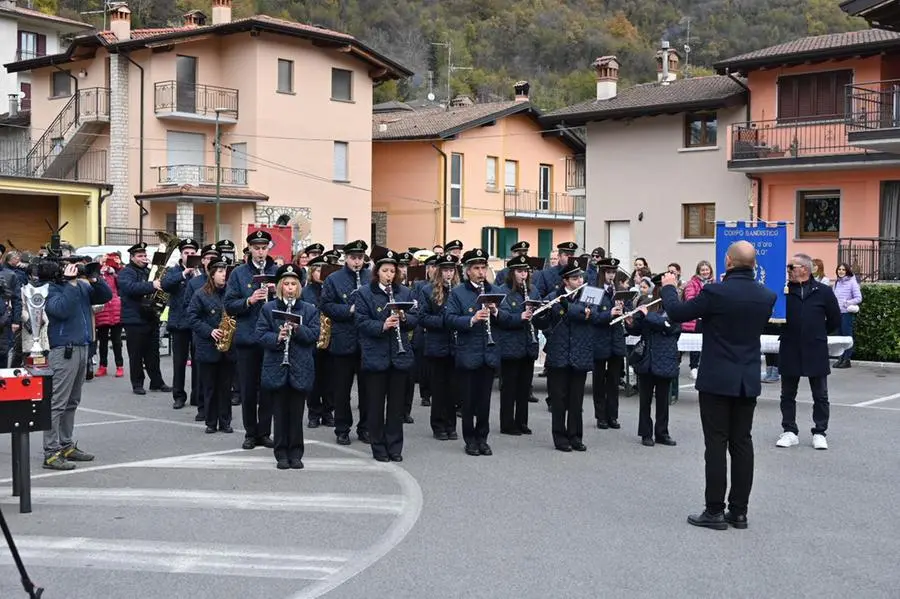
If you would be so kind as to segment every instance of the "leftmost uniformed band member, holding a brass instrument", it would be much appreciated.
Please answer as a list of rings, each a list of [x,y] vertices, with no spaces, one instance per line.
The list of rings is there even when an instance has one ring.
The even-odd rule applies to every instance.
[[[144,368],[150,377],[150,390],[169,393],[159,369],[159,318],[143,305],[144,297],[162,289],[157,281],[150,281],[150,260],[147,244],[136,243],[128,248],[131,260],[119,271],[116,281],[122,298],[122,325],[125,327],[125,344],[128,347],[128,374],[131,389],[136,395],[146,395]]]

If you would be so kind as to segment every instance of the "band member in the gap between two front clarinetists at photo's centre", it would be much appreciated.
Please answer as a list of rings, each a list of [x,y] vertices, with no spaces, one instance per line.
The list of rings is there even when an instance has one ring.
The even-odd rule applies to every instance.
[[[437,258],[430,283],[419,289],[419,324],[424,330],[422,354],[431,378],[431,430],[438,441],[456,440],[456,404],[453,397],[454,343],[444,325],[450,291],[459,284],[456,256]]]

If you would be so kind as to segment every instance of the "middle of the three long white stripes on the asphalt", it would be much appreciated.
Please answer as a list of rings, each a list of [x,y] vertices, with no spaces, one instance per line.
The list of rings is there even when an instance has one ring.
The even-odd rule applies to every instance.
[[[277,512],[340,512],[399,514],[402,495],[351,495],[343,493],[252,493],[189,489],[100,489],[92,487],[36,487],[31,497],[38,505],[140,506],[189,509]],[[0,503],[18,503],[18,497]]]

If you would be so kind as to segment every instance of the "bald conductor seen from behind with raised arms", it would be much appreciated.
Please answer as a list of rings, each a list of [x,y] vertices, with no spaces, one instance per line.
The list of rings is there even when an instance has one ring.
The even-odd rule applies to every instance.
[[[753,484],[753,412],[762,385],[760,335],[772,316],[775,293],[756,281],[756,249],[733,243],[725,255],[722,283],[705,285],[688,302],[678,299],[678,280],[663,276],[662,300],[674,322],[703,319],[703,347],[696,389],[706,444],[706,509],[688,516],[694,526],[724,530],[747,527],[747,504]],[[731,454],[731,493],[726,450]]]

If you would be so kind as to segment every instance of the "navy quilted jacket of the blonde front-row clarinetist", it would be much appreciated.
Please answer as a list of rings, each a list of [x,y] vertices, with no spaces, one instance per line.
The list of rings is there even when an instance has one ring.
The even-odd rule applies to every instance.
[[[319,311],[303,300],[294,302],[291,312],[303,317],[303,324],[291,333],[288,350],[290,367],[282,366],[284,361],[284,341],[278,341],[278,330],[284,324],[272,314],[273,310],[287,311],[287,304],[280,299],[267,302],[260,311],[254,336],[262,345],[263,366],[261,382],[263,389],[274,391],[290,385],[292,389],[308,393],[316,379],[313,355],[319,341]]]

